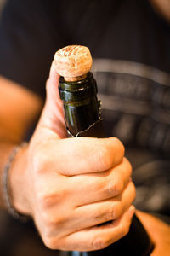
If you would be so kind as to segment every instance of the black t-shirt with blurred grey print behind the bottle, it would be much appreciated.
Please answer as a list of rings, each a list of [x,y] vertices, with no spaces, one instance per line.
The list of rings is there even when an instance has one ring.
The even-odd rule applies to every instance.
[[[170,166],[170,26],[148,0],[7,2],[0,26],[3,76],[44,96],[54,53],[68,44],[91,50],[108,136],[132,148],[127,154],[144,173],[140,181],[153,183],[157,169],[160,181]],[[165,201],[161,209],[168,212]]]

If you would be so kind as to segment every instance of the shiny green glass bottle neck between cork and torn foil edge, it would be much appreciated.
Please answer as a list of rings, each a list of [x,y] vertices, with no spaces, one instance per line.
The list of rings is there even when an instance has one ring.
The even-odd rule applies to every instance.
[[[61,77],[59,95],[64,104],[65,124],[72,136],[79,136],[100,121],[100,102],[92,73],[74,82],[65,81]]]

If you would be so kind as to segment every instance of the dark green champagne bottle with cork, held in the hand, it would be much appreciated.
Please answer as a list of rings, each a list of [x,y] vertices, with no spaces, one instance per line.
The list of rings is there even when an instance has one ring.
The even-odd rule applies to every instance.
[[[71,45],[60,49],[54,57],[59,79],[59,95],[64,104],[65,125],[71,137],[105,137],[100,117],[97,85],[90,73],[92,57],[87,47]],[[71,255],[148,256],[153,249],[144,226],[133,216],[127,236],[109,247],[93,252],[72,252]]]

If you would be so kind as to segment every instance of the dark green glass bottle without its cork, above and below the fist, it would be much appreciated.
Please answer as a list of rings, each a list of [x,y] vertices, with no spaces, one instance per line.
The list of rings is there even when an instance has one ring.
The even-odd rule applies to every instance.
[[[72,137],[105,137],[100,117],[100,102],[97,99],[97,86],[92,73],[88,73],[87,78],[77,82],[67,82],[61,77],[59,95],[64,104],[66,128]],[[134,215],[127,236],[103,250],[71,255],[149,256],[152,249],[150,237],[139,218]]]

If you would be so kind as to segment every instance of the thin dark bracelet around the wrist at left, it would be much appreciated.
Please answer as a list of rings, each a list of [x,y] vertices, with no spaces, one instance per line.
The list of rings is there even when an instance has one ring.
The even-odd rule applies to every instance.
[[[3,191],[4,204],[7,207],[8,213],[12,215],[14,218],[20,219],[20,221],[22,222],[26,222],[29,219],[29,217],[26,217],[25,215],[22,215],[19,212],[17,212],[12,205],[12,201],[9,193],[8,174],[16,154],[18,154],[20,149],[25,147],[26,144],[27,144],[26,142],[21,143],[19,146],[16,146],[13,149],[12,153],[9,155],[6,165],[4,166],[3,174],[2,174],[2,191]]]

